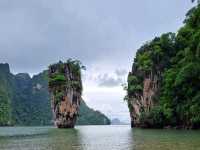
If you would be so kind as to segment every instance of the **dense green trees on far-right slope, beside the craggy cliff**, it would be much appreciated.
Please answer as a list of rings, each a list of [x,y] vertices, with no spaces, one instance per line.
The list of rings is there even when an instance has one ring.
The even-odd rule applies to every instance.
[[[189,11],[186,25],[178,32],[177,53],[165,72],[161,93],[161,105],[169,122],[192,128],[200,127],[199,10],[194,7]]]

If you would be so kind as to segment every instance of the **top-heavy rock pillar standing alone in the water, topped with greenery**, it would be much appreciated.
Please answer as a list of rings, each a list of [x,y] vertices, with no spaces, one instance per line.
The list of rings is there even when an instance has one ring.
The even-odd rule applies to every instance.
[[[73,128],[81,103],[81,69],[77,60],[49,66],[49,92],[54,123],[58,128]]]

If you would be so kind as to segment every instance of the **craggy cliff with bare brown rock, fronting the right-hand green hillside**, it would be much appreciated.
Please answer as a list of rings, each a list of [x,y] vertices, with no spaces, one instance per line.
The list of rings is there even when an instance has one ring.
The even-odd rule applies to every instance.
[[[174,34],[167,33],[138,49],[128,75],[126,96],[132,127],[163,126],[162,121],[157,121],[157,117],[162,118],[163,115],[160,111],[161,84],[175,53],[174,43]]]

